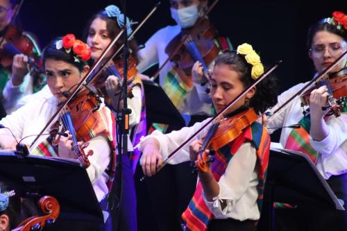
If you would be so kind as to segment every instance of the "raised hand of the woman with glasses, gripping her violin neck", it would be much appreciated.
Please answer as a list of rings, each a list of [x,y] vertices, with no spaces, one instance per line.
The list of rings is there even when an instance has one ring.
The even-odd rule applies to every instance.
[[[310,94],[310,112],[311,117],[321,119],[328,112],[328,110],[322,110],[328,99],[328,87],[321,86],[318,89],[312,90]]]

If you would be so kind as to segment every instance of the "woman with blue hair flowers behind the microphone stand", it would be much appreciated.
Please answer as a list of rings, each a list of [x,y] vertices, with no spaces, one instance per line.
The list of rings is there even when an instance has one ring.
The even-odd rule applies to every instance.
[[[118,35],[121,30],[121,26],[123,26],[123,14],[117,6],[110,5],[105,8],[105,10],[101,10],[100,12],[93,15],[87,24],[87,44],[90,46],[92,51],[92,60],[95,62],[105,51],[106,47],[110,42]],[[130,20],[127,22],[127,30],[126,33],[130,35],[132,32]],[[123,44],[123,40],[120,38],[117,45],[112,49],[113,52],[110,53],[112,55],[118,48]],[[131,94],[132,96],[128,97],[128,108],[131,110],[129,115],[129,125],[130,128],[134,129],[133,134],[133,144],[136,145],[139,142],[139,137],[146,134],[146,112],[144,105],[144,91],[142,87],[141,74],[137,72],[136,64],[137,64],[137,43],[134,38],[129,40],[129,49],[130,49],[130,62],[128,66],[128,80],[132,79],[131,82]],[[119,74],[123,75],[123,57],[122,55],[117,55],[114,58],[113,64]],[[109,72],[108,72],[109,73]],[[108,74],[106,74],[107,76]],[[110,96],[112,109],[117,111],[117,109],[121,109],[118,106],[119,96],[121,96],[121,85],[119,85],[119,78],[114,75],[108,76],[105,84],[105,89],[108,92],[108,96]],[[122,101],[121,101],[122,102]],[[137,164],[139,157],[132,156],[131,157],[131,165],[133,169]]]

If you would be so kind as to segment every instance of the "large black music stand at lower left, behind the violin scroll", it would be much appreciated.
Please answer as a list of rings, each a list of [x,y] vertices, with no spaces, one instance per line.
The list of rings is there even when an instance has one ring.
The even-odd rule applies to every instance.
[[[58,221],[103,223],[103,214],[87,171],[75,160],[0,151],[0,180],[21,196],[53,196],[60,205]]]

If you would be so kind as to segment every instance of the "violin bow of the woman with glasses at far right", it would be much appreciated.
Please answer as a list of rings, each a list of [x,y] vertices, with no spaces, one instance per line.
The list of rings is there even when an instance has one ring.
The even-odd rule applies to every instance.
[[[307,88],[311,87],[314,83],[317,83],[322,78],[324,78],[324,76],[326,74],[328,74],[328,72],[331,71],[342,60],[342,58],[344,58],[344,56],[346,54],[347,54],[347,51],[342,53],[342,55],[339,58],[337,58],[337,60],[335,60],[335,62],[332,62],[332,64],[329,67],[325,68],[318,76],[313,78],[309,83],[307,83],[305,86],[303,86],[303,88],[298,90],[298,92],[296,92],[296,94],[291,96],[287,101],[285,101],[285,103],[283,103],[282,105],[280,105],[280,107],[278,107],[275,111],[273,111],[273,113],[272,113],[272,115],[269,118],[269,121],[267,123],[270,123],[271,121],[273,121],[273,119],[276,119],[276,117],[278,117],[278,115],[281,114],[283,110],[288,108],[289,105],[291,105],[291,103],[293,103],[294,98],[296,98],[297,96],[301,96]],[[264,114],[266,114],[266,112],[264,112],[260,117],[262,117]]]

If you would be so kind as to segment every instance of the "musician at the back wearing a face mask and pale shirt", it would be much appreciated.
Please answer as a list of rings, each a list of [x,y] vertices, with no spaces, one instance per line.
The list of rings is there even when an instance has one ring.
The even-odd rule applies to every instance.
[[[208,8],[208,0],[170,0],[170,5],[171,17],[177,24],[161,28],[147,40],[144,48],[139,50],[140,60],[137,68],[140,72],[156,63],[162,67],[164,61],[169,58],[165,49],[171,40],[196,24]],[[215,35],[212,40],[219,50],[232,50],[228,38]],[[202,75],[201,69],[201,63],[196,62],[194,73],[189,76],[180,70],[175,62],[169,62],[160,71],[160,85],[178,111],[192,117],[190,124],[201,121],[213,113],[210,95],[206,91],[207,79]]]

